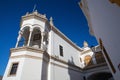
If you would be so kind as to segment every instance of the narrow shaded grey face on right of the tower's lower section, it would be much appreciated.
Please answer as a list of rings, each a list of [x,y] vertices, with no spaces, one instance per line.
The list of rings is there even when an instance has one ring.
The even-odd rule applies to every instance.
[[[49,65],[49,54],[47,52],[43,53],[42,60],[42,72],[41,72],[41,80],[48,80],[48,65]]]

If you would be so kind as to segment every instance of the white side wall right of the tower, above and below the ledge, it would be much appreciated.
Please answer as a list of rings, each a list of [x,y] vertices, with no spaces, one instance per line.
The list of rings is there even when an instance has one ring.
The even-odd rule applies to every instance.
[[[58,60],[50,59],[48,80],[82,80],[83,73],[79,69],[72,70],[70,68],[71,66],[68,65],[73,64],[80,67],[81,62],[79,56],[81,52],[58,34],[53,30],[49,32],[48,54],[53,57],[58,56]],[[63,47],[63,56],[60,56],[59,45]],[[59,62],[59,60],[65,61],[66,64],[61,61]],[[76,69],[76,67],[73,69]]]

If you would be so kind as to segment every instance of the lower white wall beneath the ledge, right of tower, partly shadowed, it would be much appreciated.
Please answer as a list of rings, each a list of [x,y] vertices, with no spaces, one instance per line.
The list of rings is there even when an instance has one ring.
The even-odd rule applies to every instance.
[[[50,80],[83,80],[83,73],[79,69],[73,69],[65,64],[52,64]]]

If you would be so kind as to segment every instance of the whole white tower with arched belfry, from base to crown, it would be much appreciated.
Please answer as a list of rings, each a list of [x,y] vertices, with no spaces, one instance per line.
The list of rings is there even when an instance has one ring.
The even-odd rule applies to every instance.
[[[43,68],[47,71],[49,61],[48,25],[46,15],[37,10],[21,17],[16,46],[10,50],[3,80],[46,80],[47,74],[42,76],[42,72]]]

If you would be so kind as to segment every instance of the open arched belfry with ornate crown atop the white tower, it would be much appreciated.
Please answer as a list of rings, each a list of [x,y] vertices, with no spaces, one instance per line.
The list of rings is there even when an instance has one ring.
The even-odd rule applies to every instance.
[[[48,29],[46,28],[46,15],[41,15],[37,12],[32,14],[26,13],[21,19],[21,28],[17,38],[16,48],[20,46],[29,46],[34,48],[43,49],[43,40],[47,36]]]

